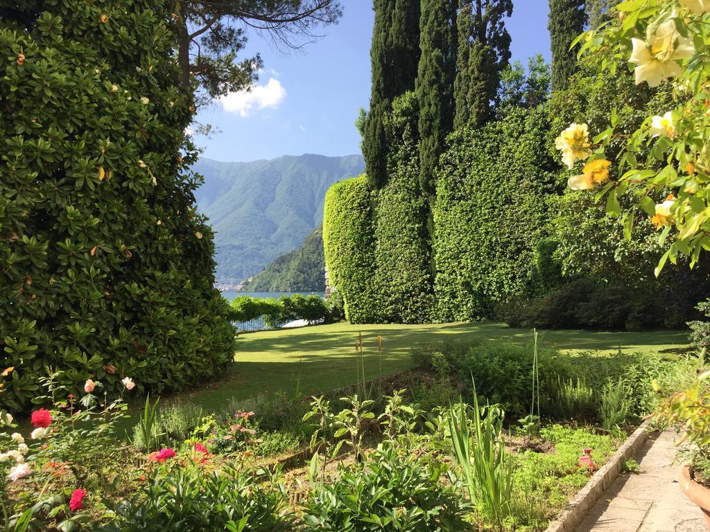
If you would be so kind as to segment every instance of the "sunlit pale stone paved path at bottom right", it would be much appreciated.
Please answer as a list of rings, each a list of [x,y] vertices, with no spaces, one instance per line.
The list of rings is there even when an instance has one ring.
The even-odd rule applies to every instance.
[[[675,482],[675,433],[653,433],[636,455],[640,473],[622,473],[577,532],[706,532],[700,509]]]

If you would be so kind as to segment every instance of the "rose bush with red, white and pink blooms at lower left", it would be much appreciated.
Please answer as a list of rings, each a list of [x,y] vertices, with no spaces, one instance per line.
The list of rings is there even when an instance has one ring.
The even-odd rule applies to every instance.
[[[72,530],[92,521],[85,513],[87,501],[94,510],[96,504],[102,507],[92,501],[88,487],[100,484],[104,494],[110,494],[119,484],[121,464],[129,458],[121,457],[126,451],[116,448],[116,423],[126,416],[127,407],[122,394],[114,400],[105,392],[103,397],[94,395],[101,382],[87,380],[86,394],[77,399],[56,384],[57,377],[53,373],[43,379],[47,394],[34,401],[51,406],[31,413],[31,433],[0,433],[0,471],[16,501],[13,516],[3,509],[8,522],[40,519],[48,526]],[[6,413],[0,416],[0,425],[16,428]],[[114,460],[106,460],[107,449]]]

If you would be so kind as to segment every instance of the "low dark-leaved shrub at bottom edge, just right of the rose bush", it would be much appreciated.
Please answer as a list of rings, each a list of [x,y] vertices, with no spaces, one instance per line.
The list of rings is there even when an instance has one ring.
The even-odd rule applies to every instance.
[[[293,528],[288,494],[278,477],[267,482],[254,470],[170,467],[131,501],[116,505],[113,532],[280,532]]]

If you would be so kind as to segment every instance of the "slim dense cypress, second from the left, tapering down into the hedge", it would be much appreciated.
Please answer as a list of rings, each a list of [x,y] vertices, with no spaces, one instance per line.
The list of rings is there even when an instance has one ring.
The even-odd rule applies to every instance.
[[[416,94],[419,103],[420,185],[430,202],[435,169],[454,123],[456,0],[422,0],[421,57]]]

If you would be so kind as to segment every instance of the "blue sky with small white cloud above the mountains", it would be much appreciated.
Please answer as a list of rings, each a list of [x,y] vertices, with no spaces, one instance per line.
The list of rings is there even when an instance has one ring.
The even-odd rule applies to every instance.
[[[507,26],[513,59],[525,64],[538,52],[550,60],[547,0],[514,0]],[[200,111],[197,121],[219,129],[197,136],[203,157],[221,161],[280,155],[359,153],[354,122],[370,98],[371,0],[343,0],[337,26],[304,52],[283,55],[253,35],[244,57],[260,52],[264,70],[251,94],[231,94]]]

